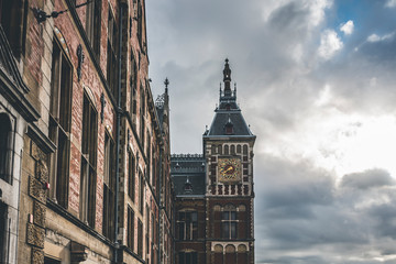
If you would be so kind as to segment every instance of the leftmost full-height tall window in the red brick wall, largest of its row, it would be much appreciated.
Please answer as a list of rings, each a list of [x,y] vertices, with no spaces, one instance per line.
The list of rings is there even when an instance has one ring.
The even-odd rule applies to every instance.
[[[61,41],[54,34],[51,75],[50,139],[57,146],[51,154],[51,198],[68,207],[70,131],[73,98],[73,64]],[[64,73],[66,70],[66,73]],[[62,114],[61,114],[62,113]],[[61,165],[59,165],[61,164]]]

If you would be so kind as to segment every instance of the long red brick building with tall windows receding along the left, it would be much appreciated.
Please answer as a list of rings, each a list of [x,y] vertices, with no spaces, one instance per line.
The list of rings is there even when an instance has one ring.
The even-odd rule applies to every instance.
[[[173,263],[144,0],[0,0],[0,263]]]

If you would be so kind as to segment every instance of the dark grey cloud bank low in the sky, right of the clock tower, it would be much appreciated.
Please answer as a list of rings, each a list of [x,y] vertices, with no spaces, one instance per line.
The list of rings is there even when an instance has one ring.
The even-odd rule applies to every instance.
[[[361,253],[387,249],[385,238],[396,239],[395,189],[382,189],[394,186],[386,170],[351,174],[337,187],[331,175],[309,162],[258,158],[265,162],[257,168],[263,174],[256,190],[256,233],[264,240],[257,246],[267,250],[257,253],[257,263],[381,263]],[[366,179],[358,178],[362,174]],[[362,260],[346,261],[353,255]]]

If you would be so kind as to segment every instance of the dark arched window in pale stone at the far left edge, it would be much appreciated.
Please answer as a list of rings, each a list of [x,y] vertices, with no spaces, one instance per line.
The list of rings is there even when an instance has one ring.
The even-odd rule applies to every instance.
[[[10,183],[12,167],[12,127],[7,113],[0,113],[0,178]]]

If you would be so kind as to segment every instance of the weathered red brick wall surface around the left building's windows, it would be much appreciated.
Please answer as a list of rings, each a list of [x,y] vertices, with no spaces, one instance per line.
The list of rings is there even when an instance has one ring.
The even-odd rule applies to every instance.
[[[85,0],[77,0],[76,3],[82,3]],[[79,26],[86,28],[86,16],[87,16],[87,7],[81,7],[76,10],[77,16],[74,16],[73,12],[66,12],[59,14],[56,19],[50,18],[46,22],[38,24],[33,18],[32,12],[29,13],[28,20],[28,34],[26,34],[26,53],[23,57],[23,78],[26,85],[31,88],[29,94],[29,99],[40,110],[41,119],[37,122],[38,128],[45,135],[48,135],[48,117],[50,117],[50,100],[51,100],[51,81],[52,81],[52,51],[53,51],[53,40],[54,40],[54,29],[58,29],[62,34],[61,43],[64,43],[67,47],[67,57],[72,64],[73,72],[73,90],[72,90],[72,117],[70,117],[70,155],[69,155],[69,169],[68,169],[68,202],[66,208],[57,208],[58,206],[54,201],[50,201],[51,206],[48,208],[51,216],[51,224],[47,228],[46,243],[47,246],[44,246],[42,251],[51,251],[56,246],[62,249],[63,252],[69,254],[68,243],[76,241],[77,243],[86,246],[88,252],[88,257],[90,261],[100,261],[108,263],[112,257],[111,248],[103,242],[102,237],[99,234],[102,232],[102,219],[103,219],[103,166],[105,166],[105,135],[106,131],[110,136],[116,140],[116,113],[117,109],[114,106],[113,95],[110,95],[107,90],[107,80],[103,79],[107,76],[107,46],[108,46],[108,15],[109,15],[109,4],[110,10],[114,14],[116,22],[119,21],[119,4],[118,0],[101,1],[101,24],[100,24],[100,54],[99,56],[92,55],[90,52],[89,43],[87,43],[87,37],[85,33],[80,31]],[[157,250],[160,248],[160,238],[161,235],[153,235],[153,232],[158,231],[157,223],[161,218],[161,210],[158,205],[158,186],[156,186],[160,178],[160,168],[153,169],[153,166],[150,164],[154,161],[154,157],[160,158],[158,152],[161,150],[161,144],[164,144],[163,147],[164,156],[169,155],[169,145],[168,145],[168,130],[165,131],[165,136],[158,131],[158,120],[155,114],[155,106],[153,100],[153,95],[151,94],[150,82],[148,82],[148,57],[146,54],[146,40],[145,40],[145,21],[143,21],[143,41],[139,42],[138,33],[138,20],[135,19],[136,12],[134,10],[135,6],[133,0],[122,1],[128,3],[125,13],[123,13],[123,48],[122,48],[122,109],[129,110],[131,94],[132,94],[132,84],[130,84],[130,76],[133,67],[131,67],[131,57],[134,57],[138,67],[136,76],[133,76],[138,79],[136,81],[136,113],[132,117],[132,123],[125,114],[121,117],[121,152],[120,152],[120,232],[121,235],[118,238],[125,244],[127,239],[127,208],[131,206],[134,210],[134,253],[138,252],[138,220],[141,220],[143,223],[143,260],[148,260],[151,263],[156,263]],[[144,7],[144,1],[141,1]],[[44,9],[46,13],[51,13],[53,10],[65,10],[69,7],[65,0],[33,0],[30,1],[31,7],[37,7]],[[143,18],[145,18],[145,10],[143,8]],[[143,19],[144,20],[144,19]],[[120,26],[120,25],[118,25]],[[120,29],[120,28],[119,28]],[[118,36],[116,36],[118,37]],[[77,48],[82,46],[82,53],[85,55],[84,63],[81,65],[81,75],[80,78],[77,76],[78,68],[78,56]],[[87,46],[88,45],[88,46]],[[133,56],[132,56],[133,55]],[[99,68],[97,68],[99,67]],[[81,129],[82,129],[82,105],[84,105],[84,95],[87,94],[92,100],[95,110],[97,111],[97,186],[96,186],[96,212],[95,212],[95,227],[94,229],[84,227],[79,220],[80,215],[80,174],[81,174]],[[144,102],[141,101],[141,95],[144,94]],[[100,119],[100,113],[102,111],[101,105],[101,95],[105,96],[106,106],[103,109],[103,121]],[[142,106],[145,106],[142,109]],[[141,119],[141,117],[144,117]],[[142,135],[140,134],[141,128],[144,122],[144,142],[142,141]],[[133,125],[134,123],[134,125]],[[167,128],[167,127],[166,127]],[[163,136],[163,138],[162,138]],[[147,138],[154,147],[147,148]],[[117,142],[116,142],[117,143]],[[114,146],[116,147],[116,146]],[[134,202],[128,197],[127,186],[128,186],[128,148],[131,148],[135,162],[136,162],[136,177],[135,177],[135,197]],[[28,148],[26,148],[28,150]],[[154,153],[147,153],[154,150]],[[118,156],[113,157],[118,160]],[[25,172],[24,178],[25,183],[29,183],[31,177],[30,167],[32,167],[32,162],[30,157],[24,158]],[[30,165],[29,165],[30,164]],[[148,167],[150,166],[150,167]],[[154,165],[156,166],[156,164]],[[166,157],[165,162],[161,164],[163,166],[163,175],[165,188],[163,189],[163,195],[166,193],[166,200],[163,200],[163,205],[166,207],[167,216],[173,216],[172,213],[172,196],[170,196],[170,185],[169,185],[169,158]],[[148,169],[150,168],[150,169]],[[147,179],[153,180],[140,180],[139,170]],[[150,172],[150,174],[148,174]],[[154,175],[154,172],[157,175]],[[112,175],[116,177],[116,175]],[[153,184],[153,185],[152,185]],[[144,202],[143,210],[139,210],[140,197],[139,189],[141,185],[144,185]],[[28,186],[22,186],[28,188]],[[56,186],[52,186],[56,188]],[[26,190],[23,190],[26,193]],[[26,193],[28,194],[28,193]],[[22,202],[26,211],[32,211],[34,198],[28,195],[22,196]],[[43,200],[43,202],[46,199]],[[145,207],[148,208],[148,215],[146,213]],[[53,210],[55,208],[55,210]],[[57,208],[57,209],[56,209]],[[151,216],[154,216],[151,217]],[[164,245],[166,250],[164,254],[168,255],[168,258],[172,260],[172,219],[163,216],[163,228],[162,232],[167,233],[163,238],[167,238],[167,244]],[[150,217],[150,221],[146,219]],[[32,228],[25,228],[28,217],[25,215],[21,216],[20,222],[23,223],[21,228],[22,237],[26,234]],[[21,227],[22,227],[21,226]],[[154,226],[154,228],[152,228]],[[81,228],[82,227],[82,228]],[[29,230],[28,230],[29,229]],[[95,235],[96,234],[96,235]],[[145,238],[148,235],[148,248],[146,248]],[[21,237],[21,238],[22,238]],[[23,237],[26,238],[26,237]],[[59,242],[58,244],[57,241]],[[56,246],[54,245],[56,244]],[[154,245],[154,251],[151,245]],[[25,250],[23,254],[20,255],[20,263],[29,263],[32,256],[37,255],[37,251],[32,253],[31,248],[28,246],[26,241],[20,241],[20,249]],[[55,248],[54,248],[55,246]],[[41,253],[43,253],[40,251]],[[48,253],[48,252],[46,252]],[[65,253],[65,254],[66,254]],[[100,257],[98,257],[100,256]],[[132,258],[136,258],[135,255],[132,255]],[[132,261],[134,262],[134,261]]]

